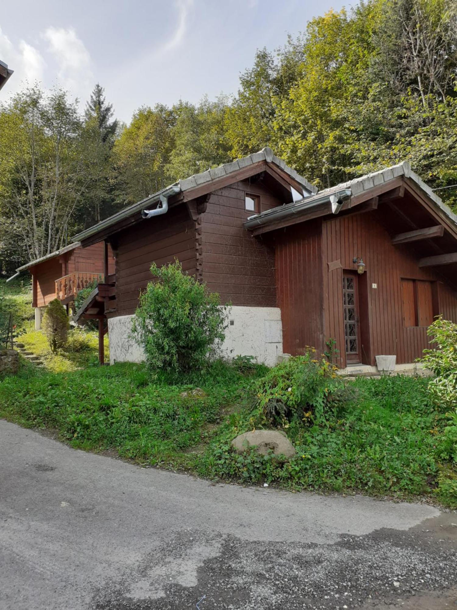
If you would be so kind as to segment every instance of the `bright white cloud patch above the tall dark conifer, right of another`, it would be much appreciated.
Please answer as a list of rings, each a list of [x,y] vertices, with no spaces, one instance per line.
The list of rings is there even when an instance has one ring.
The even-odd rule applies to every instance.
[[[57,82],[74,95],[85,97],[93,86],[91,57],[73,27],[48,27],[41,34],[57,63]]]

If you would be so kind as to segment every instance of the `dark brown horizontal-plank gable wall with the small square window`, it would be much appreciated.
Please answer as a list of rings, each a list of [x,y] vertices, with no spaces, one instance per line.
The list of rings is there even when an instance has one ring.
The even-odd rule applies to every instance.
[[[211,193],[202,214],[201,277],[222,303],[275,307],[274,248],[243,228],[253,215],[244,209],[245,193],[260,195],[261,211],[283,203],[258,182],[236,182]]]

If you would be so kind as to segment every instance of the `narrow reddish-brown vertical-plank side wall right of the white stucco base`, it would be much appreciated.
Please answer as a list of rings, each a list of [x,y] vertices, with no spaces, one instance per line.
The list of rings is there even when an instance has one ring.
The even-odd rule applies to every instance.
[[[322,222],[297,224],[275,237],[278,306],[283,351],[303,354],[306,346],[324,350]]]

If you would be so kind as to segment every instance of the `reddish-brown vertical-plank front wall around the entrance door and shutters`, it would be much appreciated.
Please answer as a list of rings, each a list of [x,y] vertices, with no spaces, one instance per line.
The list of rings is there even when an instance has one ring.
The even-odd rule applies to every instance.
[[[427,326],[409,326],[416,316],[412,309],[414,304],[411,304],[413,285],[403,282],[402,289],[404,280],[431,282],[430,289],[425,284],[420,287],[420,298],[423,301],[424,291],[435,292],[438,298],[434,300],[432,295],[436,301],[434,315],[442,313],[449,320],[457,321],[457,298],[453,290],[442,283],[436,271],[418,266],[417,254],[410,246],[392,245],[390,235],[377,221],[380,213],[382,210],[323,223],[325,337],[336,339],[336,346],[341,350],[339,365],[343,367],[346,363],[342,272],[355,270],[353,257],[361,256],[366,263],[366,272],[360,280],[366,290],[366,304],[361,303],[360,320],[369,329],[362,345],[365,364],[375,364],[374,357],[378,354],[396,354],[398,364],[414,362],[428,346]],[[425,303],[419,306],[416,319],[422,322],[428,319],[428,307],[430,305]]]

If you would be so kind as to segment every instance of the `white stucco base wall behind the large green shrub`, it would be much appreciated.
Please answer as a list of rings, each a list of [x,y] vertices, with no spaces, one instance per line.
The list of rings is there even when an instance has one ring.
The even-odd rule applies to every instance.
[[[256,356],[273,366],[283,351],[281,310],[278,307],[230,307],[222,356]],[[110,362],[141,362],[143,348],[132,337],[131,315],[108,319]]]

